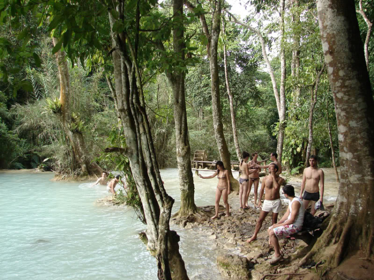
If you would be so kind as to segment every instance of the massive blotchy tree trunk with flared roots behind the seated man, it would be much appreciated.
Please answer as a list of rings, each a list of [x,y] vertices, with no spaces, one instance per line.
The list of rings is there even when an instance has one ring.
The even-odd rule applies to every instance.
[[[354,0],[317,0],[317,10],[336,105],[341,182],[330,224],[305,259],[336,244],[325,258],[336,267],[347,254],[374,253],[374,101]]]

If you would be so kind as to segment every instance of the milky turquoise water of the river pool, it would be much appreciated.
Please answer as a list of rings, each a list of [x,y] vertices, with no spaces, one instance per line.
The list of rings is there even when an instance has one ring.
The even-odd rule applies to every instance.
[[[177,169],[162,170],[180,205]],[[0,173],[0,279],[157,279],[156,260],[138,233],[146,227],[127,207],[98,206],[105,186],[51,181],[51,173]],[[215,180],[195,178],[195,201],[214,204]],[[212,241],[175,228],[190,279],[220,279]]]

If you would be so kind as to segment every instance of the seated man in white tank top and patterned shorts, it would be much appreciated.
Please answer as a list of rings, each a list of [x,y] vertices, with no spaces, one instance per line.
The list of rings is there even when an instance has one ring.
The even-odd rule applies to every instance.
[[[283,194],[290,200],[287,212],[278,223],[268,229],[269,244],[273,245],[275,251],[274,257],[269,262],[270,264],[275,264],[283,259],[278,239],[299,232],[304,222],[304,205],[300,198],[295,197],[294,187],[291,185],[284,186]]]

